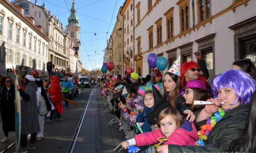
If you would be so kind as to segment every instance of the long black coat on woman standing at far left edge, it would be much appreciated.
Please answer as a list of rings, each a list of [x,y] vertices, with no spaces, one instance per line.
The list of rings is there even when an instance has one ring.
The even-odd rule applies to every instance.
[[[7,88],[3,87],[0,94],[0,111],[2,117],[2,130],[15,131],[15,87],[11,85],[7,99]]]

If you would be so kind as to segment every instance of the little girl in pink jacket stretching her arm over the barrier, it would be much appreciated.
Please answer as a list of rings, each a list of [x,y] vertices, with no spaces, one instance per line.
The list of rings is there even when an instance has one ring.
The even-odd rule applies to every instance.
[[[157,130],[150,133],[142,133],[135,138],[122,142],[122,147],[137,145],[144,146],[158,142],[158,139],[166,140],[166,144],[193,145],[198,140],[196,127],[193,122],[183,118],[177,109],[165,108],[159,114]]]

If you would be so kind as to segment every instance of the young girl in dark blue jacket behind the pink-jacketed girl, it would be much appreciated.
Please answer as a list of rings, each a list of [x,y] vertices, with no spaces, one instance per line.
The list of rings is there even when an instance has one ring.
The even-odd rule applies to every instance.
[[[143,95],[143,101],[144,101],[144,109],[143,112],[139,114],[139,116],[136,118],[136,122],[139,122],[141,129],[143,133],[150,132],[152,124],[147,121],[147,114],[150,111],[153,111],[155,108],[154,103],[154,95],[151,90],[147,90]]]

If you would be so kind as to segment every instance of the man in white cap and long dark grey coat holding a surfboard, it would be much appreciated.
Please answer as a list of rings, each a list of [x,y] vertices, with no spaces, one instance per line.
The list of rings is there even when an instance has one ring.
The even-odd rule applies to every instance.
[[[40,131],[38,121],[38,110],[36,100],[37,85],[35,78],[31,75],[26,75],[24,85],[26,85],[23,91],[19,85],[16,89],[20,92],[21,100],[21,152],[27,153],[27,149],[35,149],[36,133]],[[27,133],[31,133],[31,139],[29,146],[27,147]]]

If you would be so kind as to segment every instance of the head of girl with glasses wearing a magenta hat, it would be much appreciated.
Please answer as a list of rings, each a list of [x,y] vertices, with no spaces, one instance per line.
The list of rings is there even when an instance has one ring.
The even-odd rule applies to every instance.
[[[210,91],[206,88],[205,82],[201,80],[189,80],[186,87],[182,89],[185,91],[183,97],[186,104],[189,104],[194,113],[199,109],[205,107],[204,105],[194,105],[194,101],[206,101],[211,98]]]

